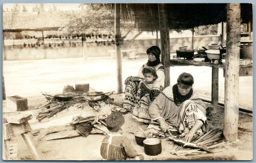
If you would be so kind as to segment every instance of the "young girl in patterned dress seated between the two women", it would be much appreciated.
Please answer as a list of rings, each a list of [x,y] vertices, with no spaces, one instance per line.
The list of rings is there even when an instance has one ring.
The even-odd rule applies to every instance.
[[[139,103],[133,109],[133,118],[138,122],[149,123],[151,119],[148,115],[148,108],[160,93],[159,86],[156,85],[158,75],[154,67],[144,67],[142,74],[144,80],[138,86],[136,99]]]

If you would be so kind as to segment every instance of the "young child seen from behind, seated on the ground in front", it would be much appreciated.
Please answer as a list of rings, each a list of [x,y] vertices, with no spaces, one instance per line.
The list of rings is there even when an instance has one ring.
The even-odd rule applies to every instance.
[[[111,113],[107,118],[110,133],[102,140],[100,154],[105,160],[145,160],[138,154],[128,138],[121,135],[124,118],[121,113]]]

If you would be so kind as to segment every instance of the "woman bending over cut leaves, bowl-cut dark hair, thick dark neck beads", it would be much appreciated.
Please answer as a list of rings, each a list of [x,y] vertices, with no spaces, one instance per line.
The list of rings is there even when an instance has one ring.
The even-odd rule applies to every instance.
[[[166,87],[150,105],[151,122],[147,129],[155,129],[172,135],[184,136],[190,142],[195,134],[208,130],[206,105],[193,91],[194,78],[182,73],[173,87]],[[159,126],[160,125],[160,126]]]

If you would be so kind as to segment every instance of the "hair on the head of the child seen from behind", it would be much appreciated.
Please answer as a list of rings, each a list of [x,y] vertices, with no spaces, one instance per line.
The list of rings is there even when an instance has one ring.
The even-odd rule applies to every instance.
[[[124,124],[124,118],[121,113],[111,113],[107,118],[107,128],[111,132],[117,132]]]

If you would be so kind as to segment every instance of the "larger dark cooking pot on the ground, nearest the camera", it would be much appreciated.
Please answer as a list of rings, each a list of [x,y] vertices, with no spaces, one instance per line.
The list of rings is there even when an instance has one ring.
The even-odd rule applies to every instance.
[[[155,156],[162,152],[161,140],[157,138],[147,138],[143,141],[144,143],[144,152],[147,155]]]

